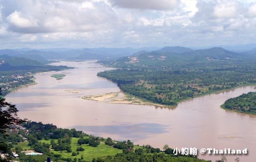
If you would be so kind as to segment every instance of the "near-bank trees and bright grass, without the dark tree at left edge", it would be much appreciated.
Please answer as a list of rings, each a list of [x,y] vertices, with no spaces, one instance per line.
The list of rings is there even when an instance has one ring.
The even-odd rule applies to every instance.
[[[141,161],[143,159],[157,159],[160,162],[166,160],[206,162],[194,156],[174,155],[170,148],[161,151],[159,148],[153,148],[150,145],[134,146],[130,140],[113,141],[111,138],[104,139],[89,136],[75,129],[57,128],[52,124],[29,121],[23,126],[29,130],[29,135],[24,135],[22,132],[20,132],[20,135],[27,137],[28,142],[22,142],[22,139],[19,140],[20,135],[18,134],[11,134],[12,139],[6,140],[6,142],[15,142],[15,145],[10,149],[19,154],[20,158],[17,160],[20,162],[43,162],[47,157],[51,157],[54,161],[63,160],[67,162],[109,162],[111,159],[114,162]],[[99,145],[90,145],[90,142],[97,142]],[[28,156],[23,153],[24,150],[34,150],[44,155]]]

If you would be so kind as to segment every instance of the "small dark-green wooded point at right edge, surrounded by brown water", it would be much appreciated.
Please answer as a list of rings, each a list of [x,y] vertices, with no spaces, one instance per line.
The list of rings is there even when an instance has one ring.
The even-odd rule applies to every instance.
[[[256,92],[249,92],[235,98],[229,98],[221,107],[241,113],[256,115]]]

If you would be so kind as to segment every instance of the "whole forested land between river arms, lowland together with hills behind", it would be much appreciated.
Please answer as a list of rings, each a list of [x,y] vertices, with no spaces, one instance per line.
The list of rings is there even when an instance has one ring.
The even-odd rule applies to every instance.
[[[134,56],[137,60],[121,58],[108,63],[117,69],[99,72],[98,76],[116,82],[125,93],[170,106],[187,98],[256,84],[254,56],[213,48],[182,54],[165,52],[166,58],[152,60],[161,55],[163,51],[139,54]]]

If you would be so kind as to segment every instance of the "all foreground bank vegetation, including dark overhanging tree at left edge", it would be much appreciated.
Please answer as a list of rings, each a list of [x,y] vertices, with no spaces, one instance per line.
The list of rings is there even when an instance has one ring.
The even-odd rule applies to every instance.
[[[118,142],[111,138],[89,136],[75,129],[62,129],[53,124],[28,121],[23,123],[16,117],[15,105],[0,100],[0,156],[1,162],[13,160],[12,151],[18,154],[20,162],[45,162],[47,157],[58,162],[207,162],[196,156],[175,155],[173,149],[165,145],[166,150],[150,145],[135,146],[130,140]],[[2,110],[7,107],[6,110]],[[20,129],[17,133],[10,131],[12,124],[22,124],[29,133]],[[24,141],[28,139],[28,142]],[[90,145],[91,143],[91,145]],[[24,150],[34,150],[43,155],[26,155]]]

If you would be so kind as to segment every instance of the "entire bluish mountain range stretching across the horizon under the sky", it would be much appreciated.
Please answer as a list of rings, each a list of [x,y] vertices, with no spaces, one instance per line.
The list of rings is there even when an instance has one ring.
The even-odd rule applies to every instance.
[[[253,45],[251,45],[252,47]],[[12,58],[8,58],[12,57]],[[84,48],[84,49],[1,49],[0,61],[6,64],[41,66],[55,62],[53,60],[83,61],[108,60],[114,64],[173,64],[183,62],[201,62],[215,60],[236,60],[241,58],[255,58],[256,48],[244,52],[231,52],[221,47],[209,49],[190,49],[182,46],[166,46],[162,49],[156,47],[145,48]],[[26,63],[28,62],[28,63]],[[3,64],[3,63],[2,63]],[[33,65],[33,66],[34,66]],[[3,69],[3,65],[1,66]]]

